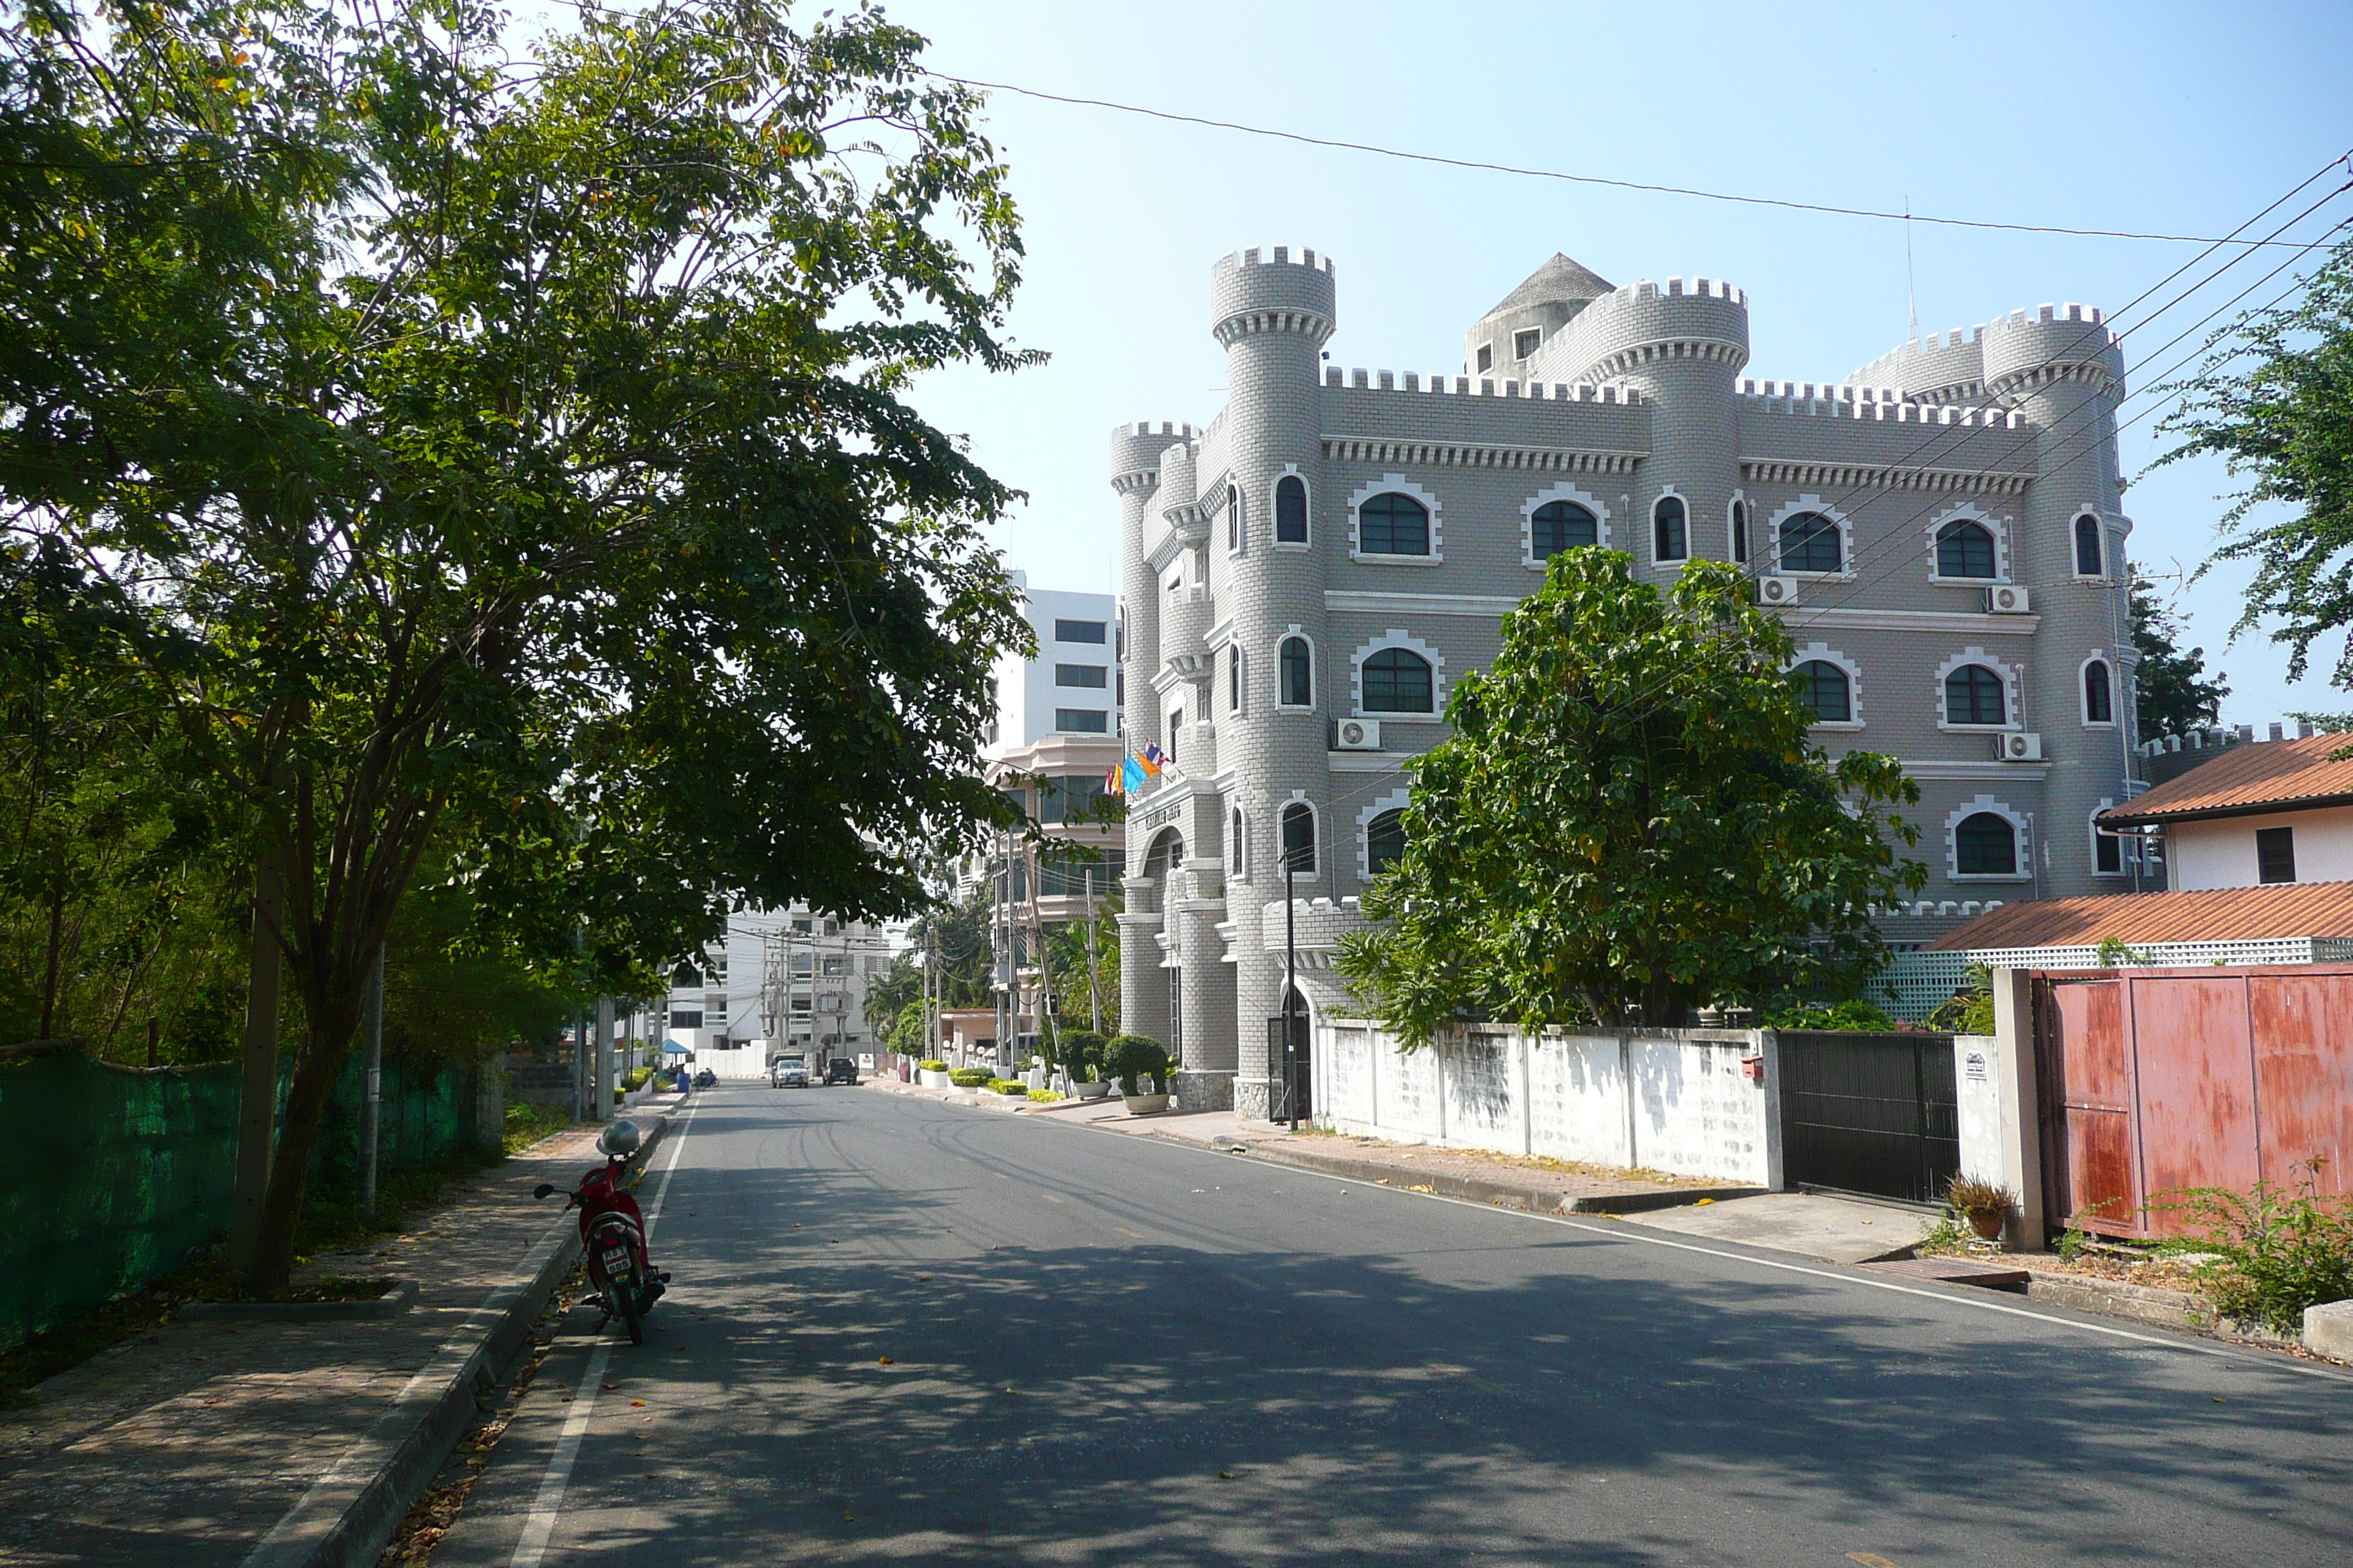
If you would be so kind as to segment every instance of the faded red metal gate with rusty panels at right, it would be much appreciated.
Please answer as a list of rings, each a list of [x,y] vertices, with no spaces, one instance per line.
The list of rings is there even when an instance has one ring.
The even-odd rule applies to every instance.
[[[2191,1187],[2353,1180],[2353,966],[2038,971],[2047,1222],[2172,1237]]]

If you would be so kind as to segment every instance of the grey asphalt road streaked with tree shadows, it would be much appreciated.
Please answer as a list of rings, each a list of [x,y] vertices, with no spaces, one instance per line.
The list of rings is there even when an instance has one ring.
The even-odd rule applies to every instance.
[[[435,1568],[2353,1561],[2280,1356],[875,1088],[673,1159]]]

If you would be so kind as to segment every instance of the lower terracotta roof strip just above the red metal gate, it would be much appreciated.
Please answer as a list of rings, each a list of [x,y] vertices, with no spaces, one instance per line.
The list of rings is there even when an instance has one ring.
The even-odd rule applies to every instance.
[[[2118,943],[2254,943],[2353,936],[2353,882],[2282,882],[2198,893],[2021,898],[1946,931],[1929,952],[1974,947],[2094,947]]]

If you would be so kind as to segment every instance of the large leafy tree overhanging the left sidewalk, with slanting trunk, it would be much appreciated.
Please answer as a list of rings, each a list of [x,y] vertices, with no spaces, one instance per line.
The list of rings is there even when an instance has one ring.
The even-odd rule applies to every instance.
[[[285,882],[264,1288],[431,846],[515,952],[647,990],[729,900],[899,914],[1007,816],[955,759],[1028,644],[979,531],[1012,496],[904,400],[1026,362],[974,94],[866,9],[584,9],[529,73],[501,26],[7,35],[9,527],[134,623]]]

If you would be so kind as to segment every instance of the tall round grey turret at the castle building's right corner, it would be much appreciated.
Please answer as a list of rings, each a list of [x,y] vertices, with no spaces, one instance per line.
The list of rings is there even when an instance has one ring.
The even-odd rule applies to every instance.
[[[2092,813],[2122,799],[2132,771],[2132,614],[2115,468],[2115,407],[2125,353],[2099,310],[2014,310],[1984,331],[1986,395],[2035,428],[2012,576],[2040,616],[2024,672],[2024,729],[2042,733],[2049,780],[2038,823],[2038,872],[2049,893],[2097,891]],[[2085,665],[2106,665],[2111,726],[2087,724]]]

